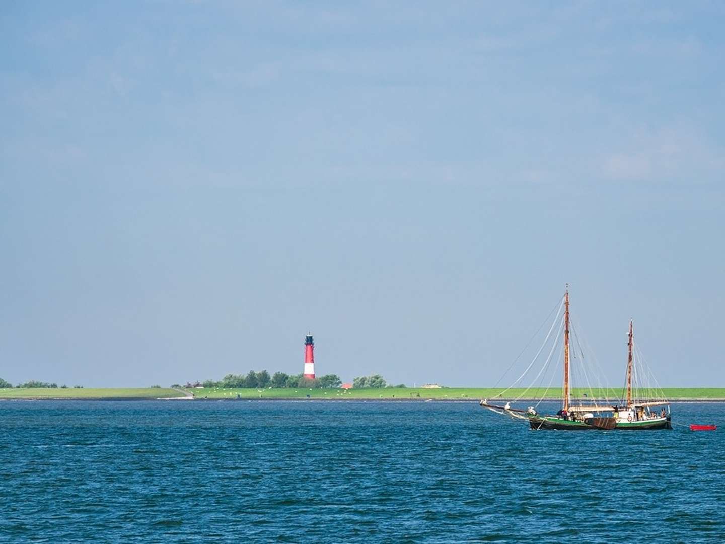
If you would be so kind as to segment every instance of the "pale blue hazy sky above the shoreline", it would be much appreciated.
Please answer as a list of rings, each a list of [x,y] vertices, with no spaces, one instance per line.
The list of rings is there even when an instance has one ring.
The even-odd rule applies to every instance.
[[[570,284],[725,387],[725,4],[0,4],[0,377],[497,382]]]

